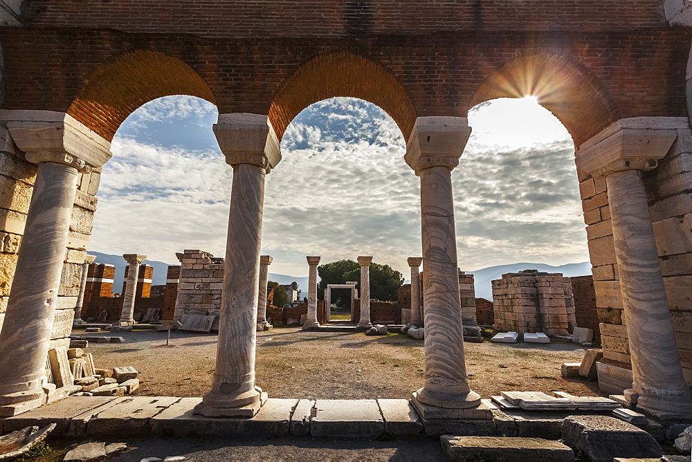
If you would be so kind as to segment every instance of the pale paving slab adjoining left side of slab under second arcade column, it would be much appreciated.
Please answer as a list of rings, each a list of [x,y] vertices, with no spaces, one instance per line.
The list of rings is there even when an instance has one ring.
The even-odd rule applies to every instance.
[[[147,433],[149,419],[160,414],[181,398],[173,396],[134,396],[102,409],[86,423],[86,434],[93,436]]]

